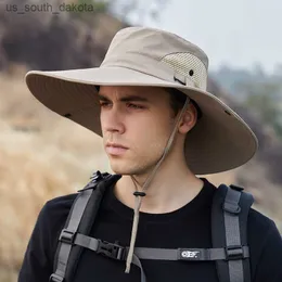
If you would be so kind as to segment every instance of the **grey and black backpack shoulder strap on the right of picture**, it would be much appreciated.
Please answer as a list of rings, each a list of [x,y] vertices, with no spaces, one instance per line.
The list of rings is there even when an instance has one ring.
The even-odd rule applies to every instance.
[[[211,210],[211,236],[214,248],[225,248],[227,259],[217,260],[220,282],[251,282],[247,248],[247,217],[254,202],[242,188],[221,184],[215,194]]]

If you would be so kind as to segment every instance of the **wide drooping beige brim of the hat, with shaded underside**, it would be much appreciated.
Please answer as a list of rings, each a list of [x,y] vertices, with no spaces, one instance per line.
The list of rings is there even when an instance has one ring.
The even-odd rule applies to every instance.
[[[31,70],[25,79],[33,95],[43,105],[101,137],[97,86],[151,86],[182,91],[203,113],[185,140],[187,163],[195,175],[222,172],[242,166],[258,148],[256,136],[234,111],[192,84],[174,84],[125,67]]]

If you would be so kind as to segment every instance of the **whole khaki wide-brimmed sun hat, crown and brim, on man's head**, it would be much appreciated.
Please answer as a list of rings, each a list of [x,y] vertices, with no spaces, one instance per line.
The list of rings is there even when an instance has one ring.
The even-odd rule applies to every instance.
[[[185,158],[195,175],[242,166],[257,151],[247,124],[207,92],[208,57],[195,44],[155,28],[127,27],[114,36],[99,67],[31,70],[25,81],[43,105],[102,137],[98,86],[176,88],[196,102],[202,117],[185,139]]]

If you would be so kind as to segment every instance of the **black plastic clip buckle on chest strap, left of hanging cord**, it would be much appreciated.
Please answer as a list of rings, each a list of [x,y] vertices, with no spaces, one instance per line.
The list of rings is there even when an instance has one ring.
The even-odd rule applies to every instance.
[[[125,247],[113,244],[106,241],[98,240],[97,254],[102,254],[106,257],[124,260],[125,259]]]

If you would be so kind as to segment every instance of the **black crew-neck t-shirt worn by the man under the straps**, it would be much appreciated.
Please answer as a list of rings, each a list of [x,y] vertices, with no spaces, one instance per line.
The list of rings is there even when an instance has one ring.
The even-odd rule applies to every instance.
[[[211,247],[210,210],[216,188],[203,179],[202,191],[185,206],[167,214],[140,214],[137,247]],[[267,193],[267,192],[266,192]],[[43,206],[25,254],[18,282],[47,282],[53,271],[57,238],[76,194],[53,198]],[[132,209],[110,188],[90,236],[129,245]],[[272,220],[251,209],[248,244],[253,282],[282,282],[282,240]],[[214,261],[141,260],[148,282],[218,282]],[[140,269],[85,249],[74,282],[139,282]]]

